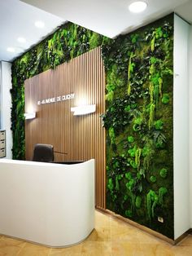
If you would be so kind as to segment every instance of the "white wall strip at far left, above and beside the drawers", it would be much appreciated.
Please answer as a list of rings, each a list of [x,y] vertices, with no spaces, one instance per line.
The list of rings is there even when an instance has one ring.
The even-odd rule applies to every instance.
[[[1,129],[6,130],[7,157],[12,159],[12,132],[11,132],[11,63],[0,62],[1,69]]]

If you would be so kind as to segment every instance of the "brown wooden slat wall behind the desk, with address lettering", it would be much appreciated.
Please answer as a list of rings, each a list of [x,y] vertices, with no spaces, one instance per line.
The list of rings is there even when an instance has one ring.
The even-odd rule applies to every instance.
[[[37,100],[71,93],[74,99],[37,105]],[[96,104],[96,113],[73,116],[71,107],[80,104]],[[53,144],[55,161],[94,158],[96,205],[105,209],[105,130],[100,117],[105,112],[105,75],[100,47],[26,80],[25,112],[31,111],[37,117],[25,121],[26,160],[32,159],[35,143]]]

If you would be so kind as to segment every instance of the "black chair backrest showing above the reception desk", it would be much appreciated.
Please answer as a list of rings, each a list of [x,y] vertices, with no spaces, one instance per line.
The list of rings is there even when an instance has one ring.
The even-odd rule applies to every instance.
[[[50,144],[37,143],[33,150],[33,161],[54,161],[54,147]]]

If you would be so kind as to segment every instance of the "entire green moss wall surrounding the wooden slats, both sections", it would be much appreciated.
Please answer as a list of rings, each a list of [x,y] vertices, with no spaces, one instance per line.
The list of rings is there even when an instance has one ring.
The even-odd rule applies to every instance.
[[[171,238],[172,38],[173,15],[115,40],[64,24],[14,61],[11,89],[13,157],[24,159],[24,80],[102,46],[107,208]]]

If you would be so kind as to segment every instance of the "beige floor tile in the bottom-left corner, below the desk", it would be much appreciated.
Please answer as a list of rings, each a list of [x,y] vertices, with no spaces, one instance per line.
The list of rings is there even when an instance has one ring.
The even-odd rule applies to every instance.
[[[23,241],[15,240],[6,236],[2,236],[0,240],[0,256],[15,256],[24,247]]]

